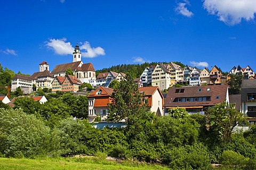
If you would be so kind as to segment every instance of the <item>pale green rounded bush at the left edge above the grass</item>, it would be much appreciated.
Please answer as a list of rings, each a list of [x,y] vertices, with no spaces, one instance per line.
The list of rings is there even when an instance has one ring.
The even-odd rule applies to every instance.
[[[0,152],[7,157],[45,156],[54,150],[50,128],[22,109],[0,109]]]

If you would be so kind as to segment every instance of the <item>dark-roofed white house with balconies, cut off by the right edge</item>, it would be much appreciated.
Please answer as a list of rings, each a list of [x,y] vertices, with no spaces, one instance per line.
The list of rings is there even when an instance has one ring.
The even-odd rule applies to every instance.
[[[243,80],[241,85],[241,105],[244,116],[256,123],[256,80]]]

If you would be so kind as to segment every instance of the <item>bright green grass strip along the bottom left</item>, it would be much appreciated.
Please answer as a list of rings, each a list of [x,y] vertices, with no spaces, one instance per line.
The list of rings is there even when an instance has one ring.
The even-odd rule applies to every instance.
[[[109,170],[135,170],[135,169],[169,169],[160,165],[148,165],[135,162],[116,162],[87,158],[39,158],[39,159],[15,159],[0,158],[0,169],[4,170],[39,170],[39,169],[109,169]]]

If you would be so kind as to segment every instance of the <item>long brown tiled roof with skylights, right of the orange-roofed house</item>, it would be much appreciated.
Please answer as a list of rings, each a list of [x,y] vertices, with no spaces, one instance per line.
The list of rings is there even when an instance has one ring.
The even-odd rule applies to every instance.
[[[183,92],[177,90],[184,89]],[[201,89],[201,90],[199,90]],[[226,101],[228,86],[193,86],[182,88],[170,88],[164,101],[164,107],[185,107],[185,106],[214,106]],[[219,99],[217,98],[219,96]],[[210,97],[210,101],[187,101],[178,102],[178,98]]]

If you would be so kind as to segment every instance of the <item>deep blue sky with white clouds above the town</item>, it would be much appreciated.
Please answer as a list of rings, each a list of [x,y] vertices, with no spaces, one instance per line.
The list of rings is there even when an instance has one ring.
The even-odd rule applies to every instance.
[[[33,74],[72,62],[78,43],[95,70],[178,61],[256,71],[256,0],[0,1],[0,63]]]

